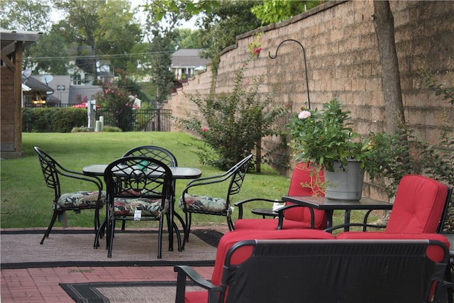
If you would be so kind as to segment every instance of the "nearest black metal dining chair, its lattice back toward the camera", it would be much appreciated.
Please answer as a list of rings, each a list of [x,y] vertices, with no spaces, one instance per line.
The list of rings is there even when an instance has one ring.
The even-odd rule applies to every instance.
[[[157,258],[162,257],[162,226],[172,202],[172,171],[155,158],[131,156],[111,162],[104,171],[107,187],[107,242],[111,258],[116,220],[158,221]],[[177,225],[178,248],[182,241]],[[172,232],[170,232],[171,234]],[[170,242],[170,241],[169,241]],[[172,250],[172,243],[169,243]]]

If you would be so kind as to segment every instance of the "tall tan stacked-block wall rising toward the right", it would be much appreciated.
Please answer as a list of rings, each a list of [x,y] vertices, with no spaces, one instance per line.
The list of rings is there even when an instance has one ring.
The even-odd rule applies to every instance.
[[[442,128],[453,131],[454,109],[443,97],[428,91],[420,67],[436,72],[441,83],[452,81],[454,1],[390,1],[390,4],[405,119],[423,140],[436,143]],[[338,98],[345,103],[345,109],[351,111],[355,131],[366,135],[369,131],[385,130],[373,14],[372,1],[329,1],[289,21],[239,35],[236,45],[226,48],[221,55],[214,89],[231,91],[235,71],[249,56],[248,45],[259,39],[262,52],[250,62],[245,75],[265,75],[262,92],[269,92],[277,85],[275,101],[289,102],[296,113],[301,106],[307,106],[308,101],[302,48],[289,41],[279,48],[275,59],[268,56],[268,53],[275,55],[277,45],[283,40],[294,39],[306,50],[311,108],[321,108],[323,103]],[[211,70],[208,68],[172,96],[165,108],[172,109],[175,116],[197,112],[185,94],[207,94],[210,87]],[[286,121],[281,123],[284,127]],[[280,140],[264,138],[265,152]],[[283,155],[277,154],[275,158],[282,159]],[[292,166],[289,162],[285,165]],[[285,171],[286,167],[277,169]],[[370,184],[366,195],[375,196],[375,187],[376,184]]]

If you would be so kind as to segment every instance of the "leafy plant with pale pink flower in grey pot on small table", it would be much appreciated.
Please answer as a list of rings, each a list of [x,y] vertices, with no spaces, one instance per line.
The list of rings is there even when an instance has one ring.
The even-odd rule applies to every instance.
[[[340,101],[333,99],[320,111],[301,109],[288,125],[289,145],[297,160],[325,170],[328,199],[360,199],[364,172],[373,178],[380,170],[375,162],[377,146],[353,132],[349,114]],[[338,173],[341,176],[336,179]],[[344,192],[344,186],[352,188]]]

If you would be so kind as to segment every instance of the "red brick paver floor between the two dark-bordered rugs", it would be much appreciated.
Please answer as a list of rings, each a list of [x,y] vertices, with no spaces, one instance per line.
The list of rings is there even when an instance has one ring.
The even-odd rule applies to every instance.
[[[23,228],[18,228],[23,229]],[[31,228],[33,229],[33,228]],[[226,228],[216,228],[226,233]],[[196,268],[202,277],[211,278],[213,267]],[[176,281],[173,266],[135,267],[57,267],[2,269],[1,303],[74,302],[59,283]]]

